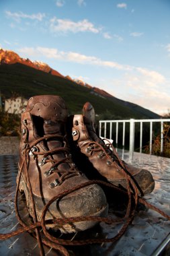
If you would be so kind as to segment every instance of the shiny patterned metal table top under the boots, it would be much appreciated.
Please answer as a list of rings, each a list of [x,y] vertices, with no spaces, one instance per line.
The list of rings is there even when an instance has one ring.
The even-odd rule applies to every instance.
[[[120,156],[128,162],[128,152]],[[19,228],[19,223],[15,216],[15,179],[17,175],[18,155],[0,156],[0,232],[7,233]],[[144,197],[149,203],[170,215],[170,159],[146,154],[134,153],[132,160],[134,166],[140,166],[149,170],[155,179],[155,190],[150,195]],[[20,195],[21,196],[21,195]],[[113,203],[114,203],[114,195]],[[116,200],[115,200],[116,201]],[[29,220],[26,203],[21,200],[19,210],[22,216]],[[110,216],[113,210],[110,206]],[[89,234],[97,237],[113,237],[118,233],[122,224],[108,225],[103,222],[83,232],[89,238]],[[64,237],[64,235],[63,235]],[[70,239],[79,237],[79,233],[71,234]],[[62,236],[61,236],[62,238]],[[121,256],[143,256],[159,255],[170,240],[170,221],[153,210],[141,208],[136,212],[136,216],[128,226],[125,234],[116,243],[104,243],[96,245],[86,245],[69,247],[71,255],[121,255]],[[155,251],[157,249],[157,251]],[[44,247],[46,255],[57,255],[56,251],[49,247]],[[18,236],[13,236],[5,241],[0,241],[0,255],[39,255],[36,239],[28,232]]]

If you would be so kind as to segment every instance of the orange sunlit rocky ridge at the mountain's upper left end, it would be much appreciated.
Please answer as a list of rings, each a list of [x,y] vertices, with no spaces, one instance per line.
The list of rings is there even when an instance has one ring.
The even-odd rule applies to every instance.
[[[64,75],[61,75],[58,71],[52,69],[46,63],[43,63],[41,61],[30,61],[30,59],[23,59],[13,51],[6,51],[3,49],[0,49],[0,63],[1,64],[22,63],[23,65],[33,67],[34,69],[42,70],[46,73],[50,73],[51,75],[58,75],[60,77],[64,77]]]

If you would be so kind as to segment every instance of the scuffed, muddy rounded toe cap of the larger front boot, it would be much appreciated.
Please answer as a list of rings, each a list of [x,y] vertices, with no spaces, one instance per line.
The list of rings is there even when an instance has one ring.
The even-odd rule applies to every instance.
[[[54,201],[46,214],[50,218],[73,218],[85,216],[108,215],[108,203],[103,190],[98,185],[89,185],[79,189],[76,194],[71,193],[61,199]],[[87,230],[97,224],[96,221],[83,220],[81,222],[69,222],[59,227],[61,232],[77,232]],[[58,226],[53,229],[58,229]]]

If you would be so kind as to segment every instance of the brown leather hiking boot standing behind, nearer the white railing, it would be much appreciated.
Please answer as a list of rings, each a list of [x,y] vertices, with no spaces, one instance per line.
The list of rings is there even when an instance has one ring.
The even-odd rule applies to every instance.
[[[83,115],[70,117],[68,127],[72,127],[72,136],[75,142],[70,142],[73,154],[76,152],[73,159],[79,168],[85,167],[83,170],[89,179],[102,179],[126,189],[127,173],[128,177],[136,184],[138,194],[146,195],[153,191],[155,181],[151,172],[126,164],[120,160],[111,143],[105,144],[99,138],[95,132],[95,111],[89,102],[83,107]],[[71,131],[69,133],[71,134]],[[89,168],[85,166],[85,161]],[[81,167],[82,162],[83,166]]]

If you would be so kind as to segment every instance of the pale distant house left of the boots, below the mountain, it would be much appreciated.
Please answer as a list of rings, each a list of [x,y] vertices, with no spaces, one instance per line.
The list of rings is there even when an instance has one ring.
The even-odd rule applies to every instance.
[[[27,105],[28,100],[22,97],[9,98],[5,100],[5,111],[7,113],[21,114]]]

